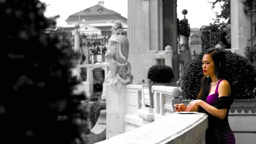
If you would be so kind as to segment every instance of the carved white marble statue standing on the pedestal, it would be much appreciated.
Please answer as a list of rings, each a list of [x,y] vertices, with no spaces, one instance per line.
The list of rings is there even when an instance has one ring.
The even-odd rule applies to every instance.
[[[105,84],[114,88],[115,91],[127,83],[132,83],[131,65],[127,61],[128,53],[129,42],[123,27],[120,22],[115,22],[105,55],[109,68]]]

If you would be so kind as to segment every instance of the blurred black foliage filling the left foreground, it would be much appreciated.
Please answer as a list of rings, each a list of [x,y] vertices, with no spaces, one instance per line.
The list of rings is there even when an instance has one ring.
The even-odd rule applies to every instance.
[[[76,143],[86,129],[78,109],[84,95],[72,76],[70,47],[46,33],[55,19],[44,17],[38,0],[0,1],[2,95],[0,143]],[[82,128],[82,129],[81,129]]]

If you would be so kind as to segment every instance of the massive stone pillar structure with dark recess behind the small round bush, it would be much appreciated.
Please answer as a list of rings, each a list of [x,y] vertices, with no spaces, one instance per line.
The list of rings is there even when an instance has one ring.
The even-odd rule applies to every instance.
[[[127,25],[133,82],[147,80],[155,64],[169,65],[177,81],[191,61],[188,46],[178,49],[177,0],[129,0]]]

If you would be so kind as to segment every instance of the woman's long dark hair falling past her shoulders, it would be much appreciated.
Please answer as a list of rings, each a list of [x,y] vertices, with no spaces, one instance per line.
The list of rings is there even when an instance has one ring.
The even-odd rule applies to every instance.
[[[210,49],[204,53],[204,55],[206,54],[209,54],[214,61],[214,73],[217,79],[222,79],[224,77],[224,69],[226,65],[225,53],[219,51],[219,49]],[[201,82],[201,89],[196,99],[205,101],[207,95],[209,94],[209,87],[211,85],[212,79],[210,76],[203,75]]]

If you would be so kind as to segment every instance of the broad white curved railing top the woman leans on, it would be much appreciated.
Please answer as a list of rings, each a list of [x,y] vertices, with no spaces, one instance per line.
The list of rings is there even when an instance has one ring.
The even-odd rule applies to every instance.
[[[204,122],[205,127],[200,127],[202,131],[205,131],[207,125],[207,115],[205,113],[197,114],[176,114],[163,116],[159,121],[143,125],[142,127],[128,131],[110,139],[97,142],[97,144],[103,143],[167,143],[175,139],[181,138],[180,136],[185,133],[189,133],[191,129],[196,125]],[[197,130],[200,133],[199,130]],[[192,135],[192,134],[189,134]]]

